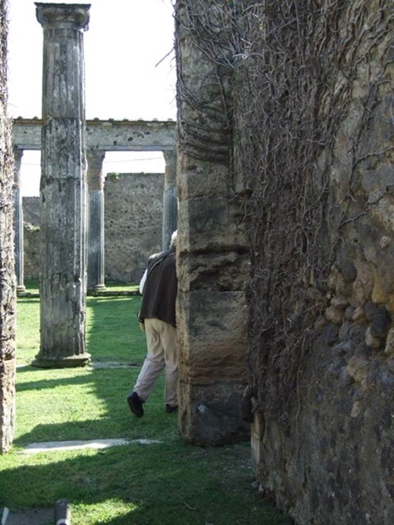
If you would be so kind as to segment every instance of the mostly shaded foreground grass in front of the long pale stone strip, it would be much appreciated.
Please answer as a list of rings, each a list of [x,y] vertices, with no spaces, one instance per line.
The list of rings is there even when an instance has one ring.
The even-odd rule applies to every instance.
[[[60,461],[4,469],[0,501],[11,508],[45,507],[59,498],[72,506],[73,523],[112,525],[289,525],[251,487],[249,448],[195,449],[184,443],[128,445]],[[37,461],[45,460],[41,455]],[[23,458],[21,458],[21,463]],[[5,482],[7,486],[5,486]],[[8,489],[7,489],[8,487]],[[12,497],[11,494],[12,487]],[[7,496],[10,496],[7,498]],[[9,501],[7,501],[9,499]],[[110,519],[100,514],[102,505]],[[10,504],[11,503],[11,504]],[[123,508],[119,513],[116,507]]]

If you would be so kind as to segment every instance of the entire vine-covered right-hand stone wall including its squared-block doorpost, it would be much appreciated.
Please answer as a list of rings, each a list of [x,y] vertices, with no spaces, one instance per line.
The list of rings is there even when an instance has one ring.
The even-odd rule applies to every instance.
[[[204,443],[223,437],[216,425],[228,428],[217,414],[223,385],[231,398],[243,335],[231,310],[237,297],[234,312],[247,311],[246,288],[262,495],[300,525],[389,525],[392,3],[178,0],[177,17],[181,432]],[[218,118],[226,108],[227,140]],[[242,195],[237,216],[231,204]],[[223,348],[234,354],[215,361]]]

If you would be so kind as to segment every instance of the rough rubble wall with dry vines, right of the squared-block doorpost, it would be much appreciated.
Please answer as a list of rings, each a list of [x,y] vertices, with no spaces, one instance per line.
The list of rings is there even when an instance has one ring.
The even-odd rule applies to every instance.
[[[254,224],[248,361],[257,476],[297,523],[388,525],[392,4],[244,7],[235,150]]]

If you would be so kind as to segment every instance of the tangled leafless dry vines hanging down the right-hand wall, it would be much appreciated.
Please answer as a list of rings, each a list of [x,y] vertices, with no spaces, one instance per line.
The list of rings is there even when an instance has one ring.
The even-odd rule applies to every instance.
[[[341,228],[355,217],[358,144],[379,100],[389,61],[389,49],[381,46],[393,9],[389,0],[376,2],[372,16],[368,0],[179,4],[189,13],[183,29],[231,78],[232,96],[223,107],[235,176],[250,195],[252,225],[250,382],[258,409],[288,426],[298,374],[316,338],[316,320],[327,307]],[[368,70],[376,53],[380,71],[360,100],[348,198],[338,205],[330,191],[336,134],[358,72]],[[180,97],[198,105],[201,114],[208,109],[188,92]],[[200,133],[209,137],[212,124],[206,129],[202,124]]]

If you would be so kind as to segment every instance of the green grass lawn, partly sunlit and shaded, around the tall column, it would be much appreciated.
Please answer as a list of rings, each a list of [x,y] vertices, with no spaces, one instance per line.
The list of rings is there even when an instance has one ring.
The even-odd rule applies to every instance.
[[[248,443],[203,449],[184,442],[177,415],[164,413],[163,377],[136,418],[126,396],[145,355],[139,297],[88,298],[87,351],[118,369],[43,370],[38,299],[18,299],[17,425],[13,450],[0,457],[0,507],[53,506],[68,498],[74,525],[289,525],[252,488]],[[23,455],[50,440],[150,438],[161,443]]]

